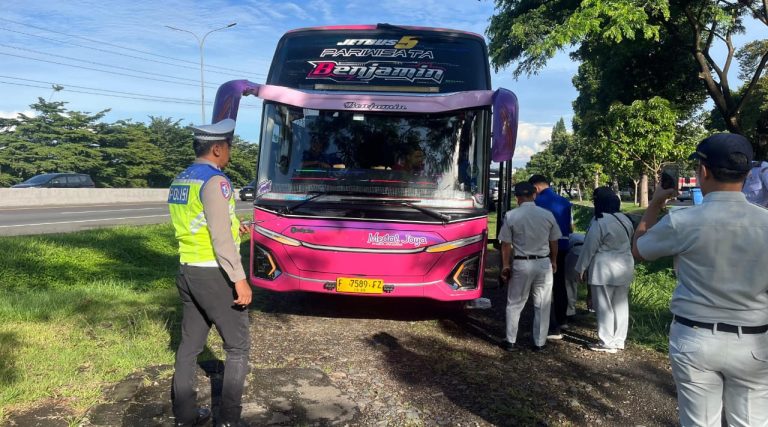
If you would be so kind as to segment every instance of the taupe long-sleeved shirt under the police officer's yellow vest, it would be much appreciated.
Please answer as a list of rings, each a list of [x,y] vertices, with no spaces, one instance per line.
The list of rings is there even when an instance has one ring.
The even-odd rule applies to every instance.
[[[197,160],[195,163],[211,162]],[[216,262],[227,273],[229,280],[237,282],[245,279],[243,263],[240,259],[240,247],[232,238],[232,220],[230,218],[229,200],[235,197],[234,190],[230,188],[229,198],[224,197],[221,191],[221,183],[227,182],[223,176],[214,176],[205,183],[200,200],[203,202],[203,212],[211,234],[213,252],[216,253]]]

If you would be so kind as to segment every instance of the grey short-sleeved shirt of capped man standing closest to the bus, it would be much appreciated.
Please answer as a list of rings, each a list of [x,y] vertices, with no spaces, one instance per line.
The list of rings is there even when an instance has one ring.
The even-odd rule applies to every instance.
[[[525,202],[504,215],[499,240],[511,243],[515,256],[549,255],[549,242],[562,237],[552,212]]]

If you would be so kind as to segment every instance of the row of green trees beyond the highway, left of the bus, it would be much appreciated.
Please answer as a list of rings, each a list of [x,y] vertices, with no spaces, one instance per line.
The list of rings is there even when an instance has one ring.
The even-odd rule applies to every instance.
[[[180,120],[103,123],[109,110],[90,114],[65,105],[39,98],[30,106],[34,115],[0,119],[0,186],[44,172],[78,172],[98,187],[162,188],[195,158],[192,133]],[[227,172],[236,186],[253,179],[257,157],[257,145],[235,138]]]

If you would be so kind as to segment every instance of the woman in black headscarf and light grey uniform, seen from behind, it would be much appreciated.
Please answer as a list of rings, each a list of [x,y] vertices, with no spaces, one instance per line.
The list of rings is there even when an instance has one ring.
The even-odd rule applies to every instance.
[[[576,261],[576,272],[592,291],[600,342],[590,350],[616,353],[624,349],[629,325],[629,284],[635,273],[632,221],[621,213],[621,200],[609,187],[593,193],[595,217]]]

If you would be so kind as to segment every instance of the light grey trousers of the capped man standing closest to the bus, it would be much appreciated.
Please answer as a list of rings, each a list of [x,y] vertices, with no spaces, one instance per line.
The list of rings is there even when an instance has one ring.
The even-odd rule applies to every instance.
[[[517,342],[520,314],[528,297],[533,296],[533,342],[547,342],[549,312],[552,303],[552,265],[549,258],[516,259],[507,286],[507,342]]]

